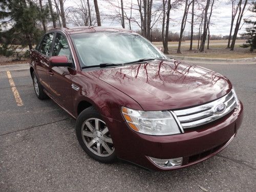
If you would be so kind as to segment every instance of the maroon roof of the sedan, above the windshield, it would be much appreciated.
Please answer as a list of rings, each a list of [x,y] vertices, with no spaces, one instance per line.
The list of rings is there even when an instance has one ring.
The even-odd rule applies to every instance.
[[[71,28],[55,28],[51,31],[62,31],[66,34],[75,34],[75,33],[90,33],[90,32],[133,32],[129,29],[122,28],[113,28],[113,27],[97,27],[97,26],[81,26],[81,27],[71,27]]]

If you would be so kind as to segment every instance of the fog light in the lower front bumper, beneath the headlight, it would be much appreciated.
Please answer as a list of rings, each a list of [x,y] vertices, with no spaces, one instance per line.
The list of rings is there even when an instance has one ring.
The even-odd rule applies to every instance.
[[[154,157],[148,157],[153,163],[161,168],[172,168],[178,167],[182,164],[182,157],[174,159],[157,159]]]

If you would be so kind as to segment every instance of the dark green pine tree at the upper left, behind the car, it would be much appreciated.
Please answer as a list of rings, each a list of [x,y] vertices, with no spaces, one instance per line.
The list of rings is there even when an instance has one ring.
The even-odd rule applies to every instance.
[[[0,9],[1,53],[8,55],[19,46],[32,49],[42,34],[40,7],[31,0],[0,0]]]

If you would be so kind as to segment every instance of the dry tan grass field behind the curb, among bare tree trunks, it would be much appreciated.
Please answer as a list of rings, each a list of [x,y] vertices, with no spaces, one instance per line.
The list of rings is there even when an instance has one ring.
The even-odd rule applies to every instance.
[[[227,40],[211,40],[209,49],[205,45],[205,51],[199,52],[197,49],[198,41],[193,41],[193,50],[189,51],[190,41],[182,41],[181,54],[177,53],[178,41],[168,42],[168,49],[170,55],[187,56],[187,57],[206,57],[206,58],[247,58],[256,57],[256,52],[250,52],[248,48],[241,48],[240,46],[246,40],[237,40],[234,51],[226,49]],[[157,47],[163,47],[162,42],[153,42]]]

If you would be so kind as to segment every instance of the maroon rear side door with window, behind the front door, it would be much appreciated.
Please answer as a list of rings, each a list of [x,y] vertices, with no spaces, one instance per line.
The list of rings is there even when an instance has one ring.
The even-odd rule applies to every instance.
[[[47,33],[41,40],[39,46],[35,50],[35,68],[36,74],[42,86],[49,90],[47,85],[47,72],[49,68],[49,58],[52,51],[54,32]]]

